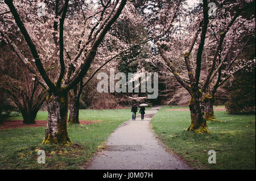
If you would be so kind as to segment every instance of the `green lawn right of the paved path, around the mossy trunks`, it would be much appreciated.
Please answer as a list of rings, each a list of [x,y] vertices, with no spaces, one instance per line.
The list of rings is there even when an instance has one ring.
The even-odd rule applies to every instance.
[[[172,107],[182,108],[182,107]],[[185,108],[185,107],[183,107]],[[255,169],[255,115],[229,115],[216,111],[220,122],[208,122],[210,134],[187,132],[189,111],[162,107],[151,121],[152,129],[167,148],[197,169]],[[208,151],[216,163],[208,163]]]

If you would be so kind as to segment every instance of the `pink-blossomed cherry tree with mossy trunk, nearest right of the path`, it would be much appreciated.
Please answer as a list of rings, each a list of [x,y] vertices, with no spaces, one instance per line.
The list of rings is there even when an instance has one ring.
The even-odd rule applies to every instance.
[[[210,98],[211,94],[230,77],[229,73],[232,74],[232,71],[229,70],[233,68],[233,62],[237,60],[243,47],[245,47],[245,43],[236,46],[241,48],[237,50],[228,66],[225,66],[224,69],[224,62],[227,60],[226,54],[228,54],[230,46],[232,47],[233,45],[231,43],[231,37],[234,36],[232,32],[241,26],[241,14],[250,7],[253,7],[255,3],[253,1],[229,3],[226,3],[226,1],[215,1],[220,8],[217,11],[218,18],[212,19],[209,18],[208,1],[204,0],[203,3],[199,3],[197,11],[193,10],[193,13],[192,11],[189,12],[187,2],[148,1],[145,3],[150,8],[139,8],[141,8],[141,13],[144,14],[144,18],[148,22],[148,32],[155,35],[162,35],[155,42],[160,54],[159,60],[164,60],[167,69],[174,74],[180,85],[191,95],[189,102],[191,125],[188,131],[209,133],[204,113],[204,100]],[[225,9],[224,5],[229,7],[232,5],[233,9]],[[145,7],[144,5],[141,6]],[[225,15],[221,11],[221,8],[225,11]],[[186,22],[184,24],[185,28],[182,29],[183,40],[179,38],[181,28],[179,26],[178,15]],[[221,15],[222,17],[220,18]],[[148,19],[149,17],[150,19]],[[246,19],[243,19],[243,21],[250,24],[247,27],[251,27],[251,22],[253,22],[253,20]],[[246,31],[245,28],[242,29]],[[194,35],[191,35],[191,32],[194,32]],[[250,31],[246,32],[250,33]],[[238,37],[241,36],[241,33],[237,34],[240,34],[237,36],[237,39],[239,39]],[[205,49],[210,49],[210,52],[213,52],[213,57],[208,58],[207,76],[203,78],[201,77],[201,71],[206,57]],[[185,68],[187,69],[186,75],[179,74],[180,66],[177,62],[180,61],[181,54],[183,54]],[[191,58],[192,54],[195,54],[195,56]],[[212,90],[210,90],[210,83],[214,81]]]

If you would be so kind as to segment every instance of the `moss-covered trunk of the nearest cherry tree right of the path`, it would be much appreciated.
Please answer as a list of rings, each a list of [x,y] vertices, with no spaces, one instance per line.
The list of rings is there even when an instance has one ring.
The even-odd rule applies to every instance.
[[[200,91],[195,91],[191,95],[191,100],[189,102],[189,110],[191,113],[191,125],[188,131],[193,131],[196,133],[209,133],[207,122],[204,118],[204,113],[201,110],[201,95]]]

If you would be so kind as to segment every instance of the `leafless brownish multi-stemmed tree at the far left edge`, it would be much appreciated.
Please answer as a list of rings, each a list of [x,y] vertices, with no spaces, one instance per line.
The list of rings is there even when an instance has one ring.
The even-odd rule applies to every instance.
[[[16,62],[13,62],[15,64]],[[8,73],[0,78],[3,92],[10,96],[23,117],[23,124],[35,124],[36,114],[46,100],[47,91],[31,77],[24,66],[16,64],[3,66]],[[10,69],[13,69],[10,71]]]

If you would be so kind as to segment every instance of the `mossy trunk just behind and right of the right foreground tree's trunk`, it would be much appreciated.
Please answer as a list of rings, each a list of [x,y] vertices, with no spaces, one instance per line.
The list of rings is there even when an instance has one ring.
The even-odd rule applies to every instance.
[[[216,117],[214,116],[213,111],[213,104],[214,104],[214,96],[210,93],[204,96],[204,116],[205,119],[208,121],[217,121]]]

